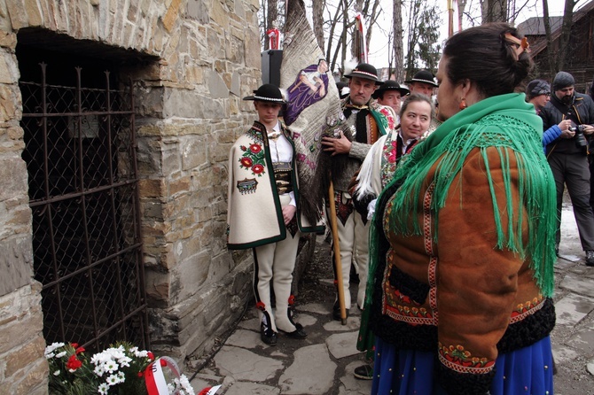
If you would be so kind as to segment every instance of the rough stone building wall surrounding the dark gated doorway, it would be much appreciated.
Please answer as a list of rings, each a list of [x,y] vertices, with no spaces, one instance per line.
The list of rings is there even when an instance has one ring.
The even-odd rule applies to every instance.
[[[225,246],[227,160],[261,81],[258,0],[0,0],[0,393],[47,391],[15,55],[22,29],[137,51],[138,168],[152,350],[184,360],[243,313],[251,253]],[[74,54],[75,55],[75,54]],[[64,339],[69,341],[70,339]]]

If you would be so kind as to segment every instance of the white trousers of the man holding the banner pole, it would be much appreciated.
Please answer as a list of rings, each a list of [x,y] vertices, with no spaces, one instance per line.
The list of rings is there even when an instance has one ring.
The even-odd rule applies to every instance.
[[[335,199],[341,199],[342,204],[353,206],[349,202],[349,195],[345,192],[335,192]],[[337,210],[338,211],[338,210]],[[326,210],[330,215],[330,211]],[[330,220],[328,223],[331,223]],[[356,265],[359,274],[359,287],[356,293],[356,303],[363,308],[365,301],[365,285],[367,284],[367,265],[369,262],[369,228],[371,221],[363,224],[363,218],[353,207],[353,212],[348,215],[347,221],[343,224],[337,219],[337,230],[340,243],[340,264],[342,268],[342,290],[345,296],[345,307],[350,308],[351,298],[348,285],[350,283],[350,266]],[[333,239],[332,239],[333,243]],[[334,248],[332,245],[332,262],[334,260]],[[336,273],[334,274],[336,280]]]

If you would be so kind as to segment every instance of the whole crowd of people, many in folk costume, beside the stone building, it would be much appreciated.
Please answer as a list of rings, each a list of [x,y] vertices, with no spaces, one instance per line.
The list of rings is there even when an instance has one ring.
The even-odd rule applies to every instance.
[[[355,375],[373,380],[373,394],[553,393],[566,186],[594,266],[594,101],[566,72],[526,84],[528,48],[514,27],[489,23],[449,37],[436,75],[380,81],[360,63],[337,83],[353,133],[321,141],[341,262],[332,318],[363,312],[367,363]],[[291,282],[299,237],[321,228],[300,213],[281,89],[264,84],[245,99],[258,120],[231,149],[228,246],[254,251],[261,339],[275,345],[278,332],[307,337],[293,321]]]

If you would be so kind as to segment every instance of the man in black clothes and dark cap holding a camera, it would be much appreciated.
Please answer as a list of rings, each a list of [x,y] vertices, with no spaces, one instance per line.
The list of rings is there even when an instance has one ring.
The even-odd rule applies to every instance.
[[[559,125],[562,120],[571,120],[571,128],[564,131],[546,147],[547,159],[557,187],[557,244],[559,252],[561,204],[564,186],[574,207],[575,222],[580,234],[582,248],[586,252],[586,265],[594,266],[594,213],[590,206],[590,168],[588,165],[588,141],[586,136],[594,133],[594,102],[587,95],[574,91],[574,77],[559,72],[552,81],[553,95],[540,116],[543,130]]]

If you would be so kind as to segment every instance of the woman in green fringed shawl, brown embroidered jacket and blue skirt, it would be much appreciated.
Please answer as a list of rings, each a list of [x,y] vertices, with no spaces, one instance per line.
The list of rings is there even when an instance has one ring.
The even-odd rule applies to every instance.
[[[371,227],[372,394],[552,394],[555,186],[542,121],[514,93],[531,66],[504,23],[445,44],[445,121],[403,158]]]

